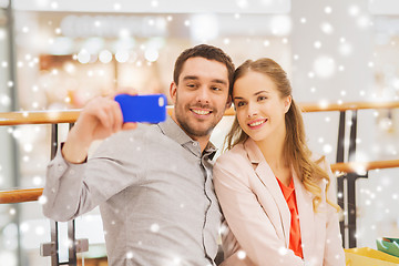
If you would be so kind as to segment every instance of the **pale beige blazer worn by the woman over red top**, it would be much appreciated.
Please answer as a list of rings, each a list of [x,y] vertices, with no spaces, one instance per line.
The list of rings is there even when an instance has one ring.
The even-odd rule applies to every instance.
[[[321,165],[335,176],[325,163]],[[293,171],[294,173],[294,171]],[[225,216],[222,229],[223,266],[344,266],[345,255],[338,213],[323,201],[313,211],[313,194],[294,173],[304,259],[289,246],[290,213],[275,175],[250,139],[221,155],[214,166],[214,184]],[[328,198],[336,202],[330,185]]]

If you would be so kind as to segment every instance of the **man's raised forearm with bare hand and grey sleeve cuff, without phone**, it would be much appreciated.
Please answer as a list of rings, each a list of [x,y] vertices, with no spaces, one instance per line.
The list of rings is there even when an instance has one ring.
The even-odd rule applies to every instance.
[[[68,134],[62,150],[58,151],[48,166],[43,191],[44,215],[55,221],[68,221],[95,207],[98,201],[91,197],[96,190],[91,190],[93,187],[89,187],[84,177],[88,174],[84,163],[88,150],[95,140],[134,127],[135,123],[123,124],[120,105],[113,98],[90,101]],[[105,164],[96,167],[109,166]],[[101,177],[104,176],[98,176]]]

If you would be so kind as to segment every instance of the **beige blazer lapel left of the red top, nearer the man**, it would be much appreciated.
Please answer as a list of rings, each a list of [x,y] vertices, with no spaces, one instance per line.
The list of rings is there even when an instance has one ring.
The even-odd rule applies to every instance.
[[[282,188],[279,187],[276,176],[274,175],[270,166],[266,163],[265,157],[263,156],[259,147],[256,145],[256,143],[248,139],[244,143],[244,147],[247,152],[248,158],[254,165],[255,173],[259,181],[265,185],[267,191],[273,196],[273,200],[275,201],[278,212],[279,212],[279,223],[283,225],[284,231],[284,238],[286,247],[289,247],[289,229],[290,229],[290,212],[287,205],[287,202],[284,198],[284,195],[282,193]],[[276,221],[270,221],[273,224],[276,223]],[[278,228],[279,225],[274,224],[276,228]]]

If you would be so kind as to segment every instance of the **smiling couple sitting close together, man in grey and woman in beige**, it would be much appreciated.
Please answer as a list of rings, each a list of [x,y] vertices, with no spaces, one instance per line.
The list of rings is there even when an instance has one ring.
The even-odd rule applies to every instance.
[[[277,63],[235,70],[221,49],[196,45],[177,58],[170,95],[172,116],[154,125],[123,124],[112,98],[89,102],[48,166],[44,215],[100,205],[114,266],[215,265],[222,212],[223,265],[344,265],[332,175],[307,149]],[[213,167],[209,136],[232,102],[229,151]]]

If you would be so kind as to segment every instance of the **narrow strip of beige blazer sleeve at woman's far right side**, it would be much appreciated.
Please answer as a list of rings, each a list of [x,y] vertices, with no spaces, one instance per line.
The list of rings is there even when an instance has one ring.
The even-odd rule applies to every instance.
[[[330,165],[325,162],[325,170],[330,177],[330,185],[327,191],[327,198],[337,203],[336,176],[332,174]],[[326,222],[326,243],[324,266],[344,266],[345,253],[342,248],[342,238],[339,231],[339,213],[335,207],[327,204],[327,222]]]

